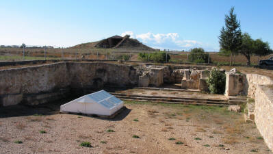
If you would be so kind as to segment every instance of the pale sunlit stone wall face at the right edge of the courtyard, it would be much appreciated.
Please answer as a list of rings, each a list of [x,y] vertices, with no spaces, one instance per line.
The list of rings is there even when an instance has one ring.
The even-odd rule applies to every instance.
[[[273,151],[273,85],[258,85],[255,98],[255,123],[265,143]]]

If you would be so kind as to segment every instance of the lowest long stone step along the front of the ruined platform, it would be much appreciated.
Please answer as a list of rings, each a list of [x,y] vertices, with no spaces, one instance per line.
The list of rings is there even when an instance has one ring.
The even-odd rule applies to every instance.
[[[113,95],[119,96],[119,97],[141,97],[141,98],[168,99],[168,100],[183,99],[183,100],[191,100],[191,101],[209,101],[209,102],[228,103],[228,100],[224,100],[224,99],[200,99],[200,98],[187,98],[187,97],[161,97],[161,96],[140,95],[140,94],[123,94],[123,93],[116,93],[116,92],[110,92],[110,94],[113,94]]]

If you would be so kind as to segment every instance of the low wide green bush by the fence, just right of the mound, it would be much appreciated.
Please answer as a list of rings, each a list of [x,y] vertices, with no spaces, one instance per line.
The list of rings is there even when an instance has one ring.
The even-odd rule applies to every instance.
[[[142,61],[166,62],[166,52],[159,51],[155,53],[138,53],[138,59]],[[170,60],[170,55],[167,54],[167,62]]]

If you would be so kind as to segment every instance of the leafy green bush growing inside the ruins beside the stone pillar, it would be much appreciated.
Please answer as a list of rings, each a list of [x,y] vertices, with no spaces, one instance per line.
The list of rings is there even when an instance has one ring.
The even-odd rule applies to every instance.
[[[226,88],[226,75],[221,70],[213,68],[206,82],[212,94],[223,94]]]

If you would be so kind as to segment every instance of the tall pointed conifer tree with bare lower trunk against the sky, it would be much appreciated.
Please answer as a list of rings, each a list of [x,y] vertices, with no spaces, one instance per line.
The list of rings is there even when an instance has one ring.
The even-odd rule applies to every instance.
[[[237,54],[242,44],[241,25],[237,21],[234,8],[231,8],[229,15],[225,15],[224,21],[225,27],[222,27],[219,36],[220,49],[223,53],[231,53],[231,65],[233,65],[232,56]]]

